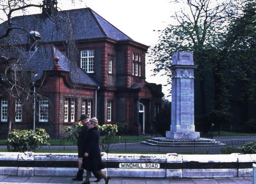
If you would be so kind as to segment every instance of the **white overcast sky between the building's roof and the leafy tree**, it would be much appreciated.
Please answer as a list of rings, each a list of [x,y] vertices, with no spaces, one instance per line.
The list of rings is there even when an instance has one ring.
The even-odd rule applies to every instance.
[[[57,0],[58,7],[62,10],[90,7],[108,22],[117,27],[133,40],[155,46],[158,41],[157,30],[163,30],[171,24],[171,14],[174,4],[169,0]],[[42,0],[31,0],[30,2],[42,2]],[[29,14],[40,13],[40,9],[29,11]],[[155,30],[155,31],[153,31]],[[146,81],[156,84],[166,84],[165,77],[150,76],[150,70],[154,66],[147,64],[146,56]],[[162,86],[162,91],[167,96],[167,89],[171,86]],[[168,98],[169,100],[171,98]]]

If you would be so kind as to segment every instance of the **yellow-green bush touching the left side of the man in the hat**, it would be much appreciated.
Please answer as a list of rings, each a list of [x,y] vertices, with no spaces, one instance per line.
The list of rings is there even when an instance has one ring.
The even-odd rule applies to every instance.
[[[78,123],[74,123],[73,125],[74,125],[73,127],[71,126],[65,127],[65,131],[68,132],[69,134],[65,135],[64,138],[67,141],[71,141],[74,145],[77,145],[78,134],[83,124],[81,122],[78,122]]]

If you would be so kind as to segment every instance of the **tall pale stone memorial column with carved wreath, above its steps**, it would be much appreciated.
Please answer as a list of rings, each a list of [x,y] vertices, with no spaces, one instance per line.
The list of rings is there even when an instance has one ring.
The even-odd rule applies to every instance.
[[[176,52],[172,71],[171,131],[167,139],[199,139],[194,126],[194,65],[191,52]]]

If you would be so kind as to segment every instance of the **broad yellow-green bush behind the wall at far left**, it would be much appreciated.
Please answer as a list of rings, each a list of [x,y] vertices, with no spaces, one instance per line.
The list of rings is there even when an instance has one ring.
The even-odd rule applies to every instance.
[[[8,134],[6,143],[11,146],[11,152],[37,151],[43,145],[49,144],[50,136],[42,128],[36,130],[13,130]]]

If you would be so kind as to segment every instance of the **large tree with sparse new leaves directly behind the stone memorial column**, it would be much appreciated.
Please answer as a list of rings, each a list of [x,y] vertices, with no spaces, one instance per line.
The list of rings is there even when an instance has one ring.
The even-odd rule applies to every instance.
[[[241,2],[179,1],[181,2],[185,4],[185,9],[174,13],[174,24],[159,31],[159,43],[151,50],[151,62],[156,65],[154,72],[164,70],[163,75],[170,76],[168,66],[171,65],[172,54],[177,51],[192,52],[194,63],[198,65],[196,77],[199,79],[199,95],[196,95],[198,99],[195,108],[200,112],[196,112],[197,115],[211,115],[210,117],[217,119],[230,117],[225,87],[234,81],[231,73],[235,65],[230,62],[225,37],[229,24],[239,17],[238,7]],[[168,82],[171,83],[171,77]]]

